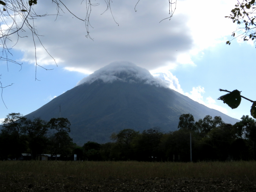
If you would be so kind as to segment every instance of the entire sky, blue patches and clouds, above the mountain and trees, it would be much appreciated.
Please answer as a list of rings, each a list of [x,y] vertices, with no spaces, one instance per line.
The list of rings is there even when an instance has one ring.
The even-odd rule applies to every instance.
[[[81,19],[86,18],[86,1],[62,1]],[[82,4],[81,4],[82,2]],[[72,89],[84,77],[111,62],[127,61],[147,69],[156,78],[164,79],[169,87],[191,99],[240,119],[250,115],[252,103],[242,99],[236,109],[217,100],[226,92],[242,91],[241,95],[255,100],[255,46],[251,41],[231,40],[236,24],[225,18],[235,0],[178,0],[175,13],[169,17],[169,1],[135,0],[111,2],[96,0],[92,7],[89,31],[86,22],[77,19],[62,6],[56,19],[56,5],[51,0],[38,1],[33,9],[40,40],[35,39],[36,60],[45,70],[35,66],[35,47],[28,28],[9,41],[9,59],[22,63],[0,62],[3,101],[0,101],[0,123],[9,113],[27,115],[54,97]],[[1,5],[2,6],[2,5]],[[65,12],[65,13],[64,13]],[[104,12],[104,13],[103,13]],[[103,13],[103,14],[102,14]],[[52,14],[52,15],[51,15]],[[163,21],[161,21],[163,20]],[[161,21],[161,22],[160,22]],[[118,24],[117,24],[118,23]],[[3,24],[1,23],[3,26]],[[0,45],[2,46],[2,45]],[[20,70],[21,69],[21,70]],[[35,81],[35,76],[40,81]],[[5,105],[6,107],[5,107]]]

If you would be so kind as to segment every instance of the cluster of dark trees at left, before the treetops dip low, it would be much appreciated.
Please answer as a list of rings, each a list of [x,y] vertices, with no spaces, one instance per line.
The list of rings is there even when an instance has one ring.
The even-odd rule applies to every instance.
[[[10,113],[3,123],[1,160],[19,158],[21,153],[31,154],[34,160],[41,154],[61,154],[63,159],[67,159],[76,146],[68,134],[70,122],[67,118],[52,118],[49,122],[35,118],[32,121],[20,113]]]

